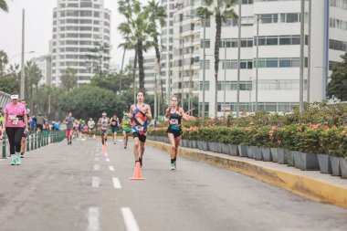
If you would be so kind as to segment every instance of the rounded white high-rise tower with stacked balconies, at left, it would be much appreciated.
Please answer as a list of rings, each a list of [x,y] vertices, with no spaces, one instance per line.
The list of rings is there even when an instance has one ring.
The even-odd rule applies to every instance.
[[[79,84],[109,69],[109,45],[110,10],[104,0],[58,0],[53,12],[53,85],[60,84],[66,68],[76,69]]]

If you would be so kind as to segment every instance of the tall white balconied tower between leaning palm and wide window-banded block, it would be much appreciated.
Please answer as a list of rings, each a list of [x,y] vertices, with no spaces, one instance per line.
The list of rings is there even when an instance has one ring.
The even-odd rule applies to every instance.
[[[192,108],[193,99],[199,92],[199,56],[200,56],[200,20],[195,16],[195,4],[199,1],[175,0],[167,6],[169,12],[169,27],[164,27],[162,35],[166,32],[166,42],[169,49],[169,58],[165,71],[169,79],[170,94],[178,96],[184,110]],[[174,6],[173,6],[174,5]],[[170,17],[173,14],[174,18]],[[173,25],[173,26],[170,26]],[[165,46],[163,46],[165,47]],[[166,69],[165,69],[166,70]],[[170,99],[170,98],[169,98]]]

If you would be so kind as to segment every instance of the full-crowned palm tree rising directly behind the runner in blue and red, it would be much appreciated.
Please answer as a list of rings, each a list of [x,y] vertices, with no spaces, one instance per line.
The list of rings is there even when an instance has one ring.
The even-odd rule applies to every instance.
[[[119,1],[119,5],[126,5]],[[139,64],[139,87],[144,91],[144,68],[143,68],[143,51],[146,52],[149,47],[152,47],[152,41],[149,40],[147,32],[149,31],[150,22],[147,13],[142,10],[142,5],[139,1],[127,1],[130,7],[126,10],[127,22],[123,22],[118,26],[123,37],[128,37],[134,43],[135,60],[138,58]],[[134,67],[135,68],[135,67]]]

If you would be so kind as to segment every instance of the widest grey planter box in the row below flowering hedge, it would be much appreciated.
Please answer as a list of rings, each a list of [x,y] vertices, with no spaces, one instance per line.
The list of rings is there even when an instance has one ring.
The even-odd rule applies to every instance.
[[[320,170],[318,156],[314,153],[293,152],[294,164],[300,170]]]

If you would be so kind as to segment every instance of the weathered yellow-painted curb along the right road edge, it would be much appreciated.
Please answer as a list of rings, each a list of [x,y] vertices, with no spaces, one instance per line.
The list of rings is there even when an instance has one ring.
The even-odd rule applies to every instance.
[[[163,142],[147,140],[146,143],[166,152],[170,152],[171,149],[169,144]],[[294,194],[300,194],[316,201],[347,208],[347,187],[342,185],[331,184],[308,176],[262,166],[257,163],[235,160],[232,156],[226,154],[200,152],[197,149],[181,147],[178,149],[178,154],[191,160],[209,163],[217,167],[252,176],[269,184],[278,185]]]

